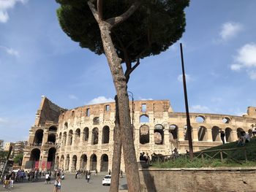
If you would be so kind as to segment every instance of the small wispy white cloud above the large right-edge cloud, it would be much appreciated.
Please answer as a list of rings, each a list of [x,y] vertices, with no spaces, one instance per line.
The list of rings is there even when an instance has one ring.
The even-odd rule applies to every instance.
[[[240,23],[227,22],[222,24],[222,30],[219,32],[219,36],[222,41],[227,41],[236,37],[236,35],[242,31],[243,26]]]

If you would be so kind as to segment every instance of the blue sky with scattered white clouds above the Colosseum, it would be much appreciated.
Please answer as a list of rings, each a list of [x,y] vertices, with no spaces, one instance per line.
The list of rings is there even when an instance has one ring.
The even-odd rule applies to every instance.
[[[105,55],[72,42],[55,1],[0,0],[0,139],[28,139],[41,96],[60,107],[112,101]],[[197,0],[186,9],[184,45],[191,112],[241,115],[256,106],[256,1]],[[184,112],[178,43],[132,73],[135,100],[169,99]]]

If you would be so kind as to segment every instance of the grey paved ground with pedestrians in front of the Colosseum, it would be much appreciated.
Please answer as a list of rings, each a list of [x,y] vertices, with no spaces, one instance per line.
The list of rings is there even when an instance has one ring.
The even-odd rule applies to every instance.
[[[102,185],[102,178],[105,174],[92,175],[90,183],[87,183],[85,177],[75,179],[75,174],[65,174],[65,180],[61,183],[61,192],[107,192],[109,186]],[[14,183],[14,187],[11,191],[17,192],[53,192],[53,183],[45,185],[44,180],[32,183]],[[120,179],[119,190],[127,191],[127,180],[125,178]],[[0,191],[6,191],[5,188],[0,186]]]

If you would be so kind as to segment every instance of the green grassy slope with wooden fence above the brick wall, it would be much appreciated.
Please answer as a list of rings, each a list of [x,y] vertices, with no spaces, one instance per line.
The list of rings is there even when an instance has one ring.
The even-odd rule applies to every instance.
[[[219,151],[222,150],[222,158]],[[203,160],[201,152],[204,152]],[[227,154],[225,154],[227,153]],[[207,155],[206,155],[207,154]],[[194,153],[195,158],[190,160],[186,155],[181,155],[175,160],[165,161],[164,163],[154,163],[152,166],[158,168],[200,168],[200,167],[240,167],[240,166],[256,166],[256,138],[246,143],[242,147],[238,147],[236,142],[225,145],[211,147]],[[247,161],[246,161],[247,159]]]

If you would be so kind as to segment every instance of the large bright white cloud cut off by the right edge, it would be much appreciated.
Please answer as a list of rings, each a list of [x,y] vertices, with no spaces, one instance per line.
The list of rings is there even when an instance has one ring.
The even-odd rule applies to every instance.
[[[230,65],[233,71],[246,69],[247,74],[251,80],[256,80],[256,44],[249,43],[244,45],[238,50],[237,55],[234,57],[236,64]]]

